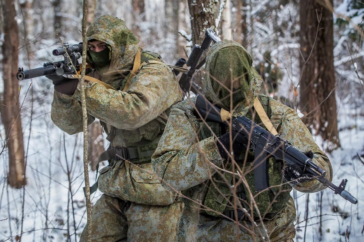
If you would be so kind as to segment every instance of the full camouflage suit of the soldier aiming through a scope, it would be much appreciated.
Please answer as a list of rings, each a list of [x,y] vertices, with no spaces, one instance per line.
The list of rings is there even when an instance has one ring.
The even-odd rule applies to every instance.
[[[123,92],[139,49],[137,38],[122,20],[105,15],[88,28],[87,40],[103,41],[110,49],[110,67],[89,75],[118,90],[85,83],[88,124],[99,119],[110,148],[135,147],[139,155],[128,161],[110,158],[100,171],[98,188],[104,194],[92,209],[92,241],[174,241],[183,203],[161,186],[150,159],[170,106],[182,98],[175,75],[158,54],[142,51],[144,65]],[[88,58],[92,63],[89,53]],[[79,86],[72,96],[55,91],[51,117],[59,128],[81,132],[81,113]]]

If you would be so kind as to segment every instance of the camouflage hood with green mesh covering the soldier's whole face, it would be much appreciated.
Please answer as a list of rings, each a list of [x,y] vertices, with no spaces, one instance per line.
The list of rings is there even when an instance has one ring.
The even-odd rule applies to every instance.
[[[260,91],[261,78],[252,66],[252,57],[243,46],[232,40],[219,41],[206,56],[205,96],[211,102],[245,115]],[[232,90],[232,95],[231,91]]]

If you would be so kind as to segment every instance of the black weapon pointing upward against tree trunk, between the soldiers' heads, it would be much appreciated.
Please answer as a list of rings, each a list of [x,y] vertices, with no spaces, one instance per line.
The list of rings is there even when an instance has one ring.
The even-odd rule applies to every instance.
[[[181,87],[184,93],[188,93],[192,91],[195,94],[201,93],[202,89],[192,80],[193,75],[197,70],[199,70],[206,61],[204,58],[200,63],[200,59],[205,50],[209,49],[211,41],[214,43],[220,41],[220,38],[214,33],[214,31],[210,28],[206,29],[205,38],[202,41],[201,46],[195,44],[193,46],[192,52],[188,57],[186,65],[190,67],[189,71],[183,73],[181,78],[179,79],[179,86]]]

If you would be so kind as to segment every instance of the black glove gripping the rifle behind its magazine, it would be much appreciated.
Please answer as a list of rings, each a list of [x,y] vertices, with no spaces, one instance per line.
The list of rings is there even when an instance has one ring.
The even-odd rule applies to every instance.
[[[224,135],[218,137],[218,140],[220,142],[218,140],[216,141],[217,148],[219,149],[221,157],[226,160],[229,155],[225,152],[225,149],[222,147],[222,145],[225,146],[227,151],[230,151],[230,132],[232,132],[233,151],[235,159],[238,159],[238,157],[245,152],[245,145],[248,142],[244,135],[238,134],[235,131],[227,131]]]

